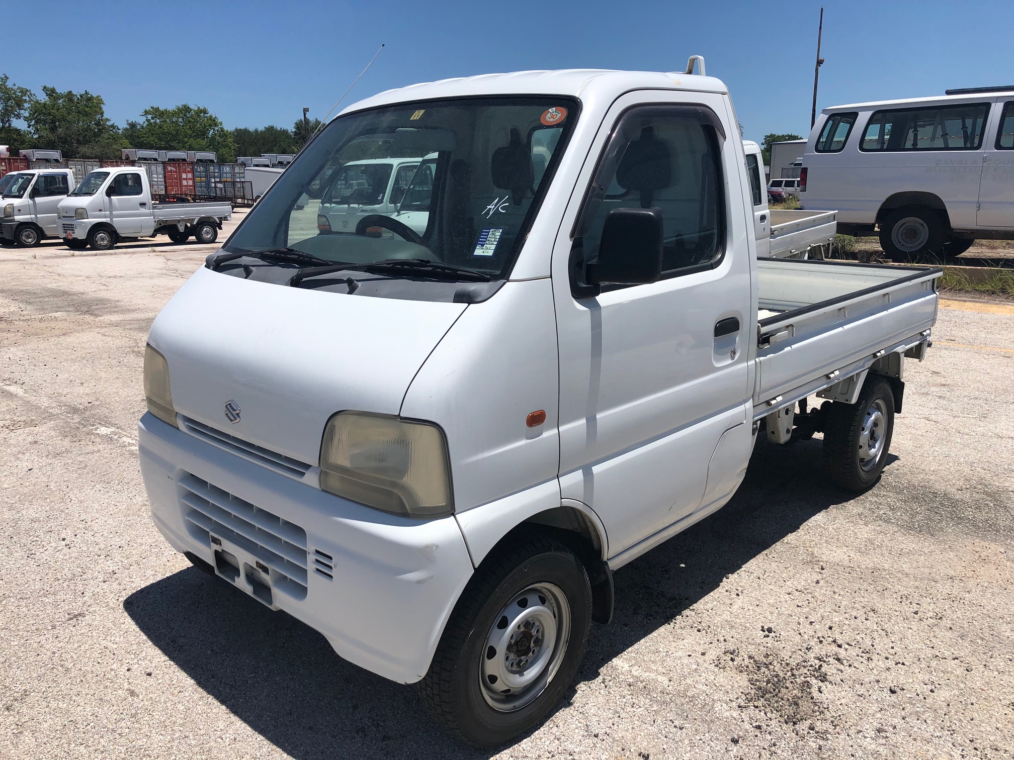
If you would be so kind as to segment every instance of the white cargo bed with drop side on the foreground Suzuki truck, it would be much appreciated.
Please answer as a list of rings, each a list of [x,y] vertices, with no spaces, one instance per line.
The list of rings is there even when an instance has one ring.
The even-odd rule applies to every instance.
[[[939,269],[758,259],[753,417],[929,339]]]

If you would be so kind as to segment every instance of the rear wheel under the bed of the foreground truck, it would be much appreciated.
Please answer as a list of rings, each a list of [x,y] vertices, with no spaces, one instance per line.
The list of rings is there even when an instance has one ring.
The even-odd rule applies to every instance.
[[[887,462],[893,433],[894,392],[885,378],[870,375],[856,403],[830,404],[823,442],[824,467],[830,479],[847,490],[871,488]]]

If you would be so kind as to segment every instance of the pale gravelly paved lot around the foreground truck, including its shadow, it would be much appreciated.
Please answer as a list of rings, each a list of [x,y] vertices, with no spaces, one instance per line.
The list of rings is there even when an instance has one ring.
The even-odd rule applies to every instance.
[[[0,250],[0,758],[1012,757],[1010,306],[941,310],[870,492],[762,442],[617,574],[566,703],[480,753],[156,532],[142,351],[205,251],[150,248]]]

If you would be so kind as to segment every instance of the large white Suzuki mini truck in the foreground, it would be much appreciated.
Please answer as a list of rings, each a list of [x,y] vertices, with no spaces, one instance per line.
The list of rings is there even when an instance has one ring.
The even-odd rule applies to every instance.
[[[436,154],[422,233],[299,208],[364,154]],[[152,324],[155,524],[419,682],[451,732],[515,737],[609,620],[611,573],[726,504],[758,431],[822,432],[846,488],[880,475],[940,273],[758,259],[752,206],[703,74],[480,76],[348,107]]]

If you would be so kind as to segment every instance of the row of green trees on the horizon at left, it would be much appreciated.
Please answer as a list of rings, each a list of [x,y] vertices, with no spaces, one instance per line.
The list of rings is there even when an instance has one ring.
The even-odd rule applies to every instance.
[[[309,136],[319,126],[319,120],[309,120]],[[236,156],[296,153],[305,144],[306,133],[301,119],[291,130],[274,126],[227,130],[207,108],[187,103],[172,108],[152,105],[121,128],[106,118],[100,95],[49,86],[37,94],[0,74],[0,145],[10,146],[11,155],[28,148],[62,150],[67,158],[120,158],[123,148],[213,150],[219,161],[229,162]]]

